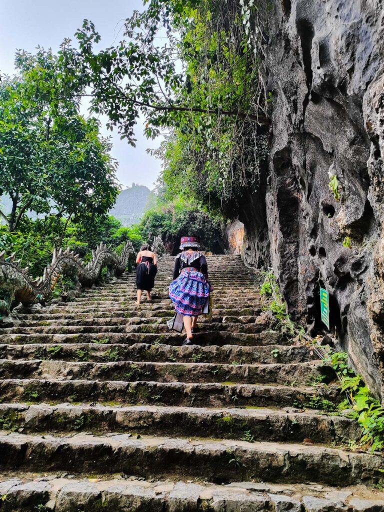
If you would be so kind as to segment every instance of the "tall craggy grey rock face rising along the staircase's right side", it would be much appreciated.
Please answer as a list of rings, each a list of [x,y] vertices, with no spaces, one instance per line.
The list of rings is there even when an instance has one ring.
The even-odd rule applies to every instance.
[[[248,260],[259,263],[264,245],[289,311],[313,332],[322,329],[319,287],[329,291],[332,329],[377,396],[384,396],[383,13],[382,0],[273,1],[266,225],[263,215],[240,216]]]

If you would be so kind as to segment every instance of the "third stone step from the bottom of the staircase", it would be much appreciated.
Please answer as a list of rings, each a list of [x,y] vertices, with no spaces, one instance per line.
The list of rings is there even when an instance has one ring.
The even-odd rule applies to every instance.
[[[87,431],[93,434],[131,431],[133,435],[210,437],[254,441],[336,444],[358,440],[356,421],[325,416],[320,411],[287,409],[207,409],[159,406],[88,406],[70,403],[49,406],[0,404],[5,430],[23,433]]]

